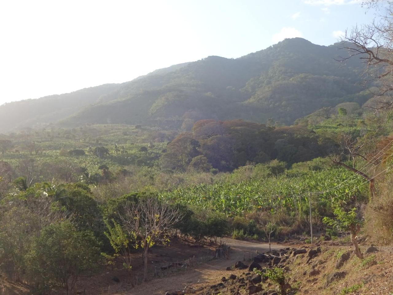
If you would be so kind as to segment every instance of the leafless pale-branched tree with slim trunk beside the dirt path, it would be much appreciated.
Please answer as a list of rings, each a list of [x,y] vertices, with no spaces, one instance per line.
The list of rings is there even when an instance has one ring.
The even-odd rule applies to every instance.
[[[178,207],[155,196],[141,197],[136,202],[127,201],[120,216],[123,228],[136,236],[134,247],[145,251],[143,280],[147,280],[147,253],[156,243],[169,242],[168,232],[182,216]]]

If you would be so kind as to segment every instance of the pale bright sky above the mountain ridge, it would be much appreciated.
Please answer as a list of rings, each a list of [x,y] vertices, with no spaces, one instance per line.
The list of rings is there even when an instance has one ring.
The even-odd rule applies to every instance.
[[[0,105],[285,38],[329,45],[373,17],[359,0],[2,0]]]

